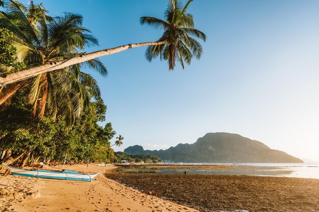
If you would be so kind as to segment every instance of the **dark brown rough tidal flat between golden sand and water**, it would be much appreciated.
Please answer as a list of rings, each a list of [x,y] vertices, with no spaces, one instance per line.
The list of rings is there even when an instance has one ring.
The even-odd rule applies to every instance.
[[[319,211],[319,179],[106,173],[129,187],[200,211]]]

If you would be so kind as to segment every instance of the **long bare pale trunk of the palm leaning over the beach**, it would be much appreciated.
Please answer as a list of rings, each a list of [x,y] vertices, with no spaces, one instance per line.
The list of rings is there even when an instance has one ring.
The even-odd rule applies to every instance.
[[[127,44],[124,46],[118,46],[118,47],[111,48],[111,49],[103,49],[103,50],[91,52],[88,54],[82,54],[82,55],[73,57],[71,59],[65,59],[65,60],[62,60],[59,62],[44,64],[41,66],[33,67],[30,69],[24,69],[22,71],[8,74],[6,76],[6,78],[0,77],[0,84],[11,84],[11,83],[18,82],[18,81],[21,81],[24,79],[28,79],[30,77],[34,77],[34,76],[39,75],[39,74],[43,74],[43,73],[50,72],[50,71],[55,71],[58,69],[63,69],[63,68],[68,67],[68,66],[83,63],[83,62],[86,62],[88,60],[100,57],[100,56],[114,54],[114,53],[124,51],[124,50],[130,49],[130,48],[142,47],[142,46],[155,46],[155,45],[161,45],[164,43],[165,43],[165,41],[134,43],[134,44]]]

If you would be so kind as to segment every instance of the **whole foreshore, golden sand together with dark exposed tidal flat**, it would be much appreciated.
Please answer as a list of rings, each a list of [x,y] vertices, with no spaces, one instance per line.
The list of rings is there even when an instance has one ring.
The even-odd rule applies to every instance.
[[[0,211],[319,211],[319,179],[65,168],[101,173],[92,182],[0,176]]]

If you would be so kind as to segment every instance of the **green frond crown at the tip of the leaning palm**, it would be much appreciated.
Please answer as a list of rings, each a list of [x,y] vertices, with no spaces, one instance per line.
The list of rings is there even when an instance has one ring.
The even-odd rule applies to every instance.
[[[173,70],[176,60],[184,69],[184,62],[190,64],[193,57],[200,58],[203,49],[193,37],[206,41],[206,35],[194,27],[193,15],[187,13],[192,2],[193,0],[189,0],[185,6],[182,6],[180,0],[171,0],[164,14],[165,20],[141,17],[141,24],[164,30],[163,36],[158,41],[165,41],[165,43],[149,46],[145,52],[149,61],[160,56],[161,59],[168,60],[169,69]]]

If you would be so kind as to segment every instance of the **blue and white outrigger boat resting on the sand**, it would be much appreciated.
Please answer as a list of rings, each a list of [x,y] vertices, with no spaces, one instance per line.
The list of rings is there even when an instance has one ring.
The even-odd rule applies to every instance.
[[[67,179],[67,180],[80,180],[80,181],[92,181],[99,173],[85,173],[73,170],[63,169],[62,171],[56,170],[42,170],[42,169],[20,169],[4,164],[8,167],[13,175],[38,177],[46,179]]]

